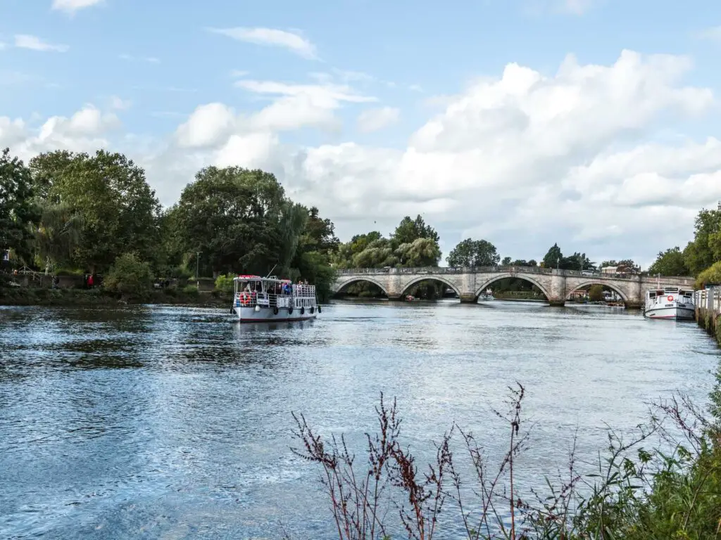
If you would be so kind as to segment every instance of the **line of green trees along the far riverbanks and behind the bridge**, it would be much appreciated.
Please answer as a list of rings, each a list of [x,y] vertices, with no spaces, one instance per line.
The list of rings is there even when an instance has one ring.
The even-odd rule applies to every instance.
[[[105,287],[126,300],[133,287],[144,292],[153,279],[273,271],[293,281],[307,279],[326,301],[336,269],[438,266],[442,258],[440,236],[420,215],[403,217],[387,235],[372,230],[342,243],[333,222],[317,207],[294,202],[273,174],[239,166],[200,169],[177,202],[163,207],[143,168],[123,154],[56,150],[25,164],[5,149],[0,192],[5,194],[0,198],[0,266],[102,274]],[[721,210],[702,210],[694,240],[683,252],[659,253],[650,270],[718,274],[721,266],[713,265],[721,260],[720,224]],[[472,238],[457,243],[446,261],[449,266],[501,262],[589,270],[616,263],[597,265],[579,252],[564,256],[556,243],[539,261],[502,260],[490,241]],[[629,259],[621,262],[637,268]],[[495,284],[495,291],[532,290],[526,282],[506,281]],[[432,297],[440,290],[434,287],[419,284],[410,294]],[[372,295],[369,288],[368,283],[349,286],[351,293]]]

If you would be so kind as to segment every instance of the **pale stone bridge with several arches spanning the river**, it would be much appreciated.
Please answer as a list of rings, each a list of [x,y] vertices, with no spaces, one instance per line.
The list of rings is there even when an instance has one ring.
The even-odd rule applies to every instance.
[[[551,305],[564,305],[571,294],[583,287],[600,284],[614,290],[627,307],[642,307],[647,289],[661,287],[694,288],[692,277],[656,278],[644,274],[600,274],[578,270],[557,270],[540,266],[479,266],[476,268],[385,268],[339,270],[333,292],[355,282],[376,284],[391,300],[399,300],[412,285],[426,279],[442,282],[453,289],[461,302],[477,302],[479,294],[503,278],[524,279],[534,284]]]

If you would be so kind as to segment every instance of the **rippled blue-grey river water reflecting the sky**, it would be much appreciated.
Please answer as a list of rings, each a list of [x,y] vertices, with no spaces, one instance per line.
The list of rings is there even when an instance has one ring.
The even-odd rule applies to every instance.
[[[694,323],[606,307],[336,302],[258,326],[196,307],[4,307],[0,538],[333,538],[291,411],[355,445],[384,392],[422,456],[455,421],[493,457],[508,437],[491,408],[518,381],[536,422],[518,482],[540,485],[576,428],[590,457],[605,423],[632,428],[651,400],[706,401],[718,359]]]

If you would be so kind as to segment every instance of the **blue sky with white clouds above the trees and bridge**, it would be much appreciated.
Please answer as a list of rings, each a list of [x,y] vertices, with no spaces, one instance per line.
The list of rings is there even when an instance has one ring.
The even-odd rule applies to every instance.
[[[98,148],[164,206],[273,172],[341,240],[423,215],[444,256],[593,261],[721,199],[715,0],[0,0],[0,148]]]

